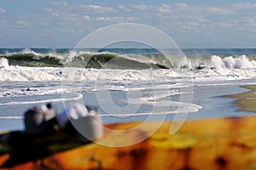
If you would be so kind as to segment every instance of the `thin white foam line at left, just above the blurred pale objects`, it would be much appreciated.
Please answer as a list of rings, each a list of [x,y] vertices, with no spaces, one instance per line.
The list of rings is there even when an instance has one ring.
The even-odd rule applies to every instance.
[[[47,103],[47,102],[61,102],[61,101],[72,101],[72,100],[78,100],[78,99],[82,99],[83,98],[83,94],[79,94],[76,97],[70,98],[70,99],[43,99],[43,100],[38,100],[38,101],[14,101],[14,102],[7,102],[7,103],[3,103],[0,105],[26,105],[26,104],[40,104],[40,103]]]

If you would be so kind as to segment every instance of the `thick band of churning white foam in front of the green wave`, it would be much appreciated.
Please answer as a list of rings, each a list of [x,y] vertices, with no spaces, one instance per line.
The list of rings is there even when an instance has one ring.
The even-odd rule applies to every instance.
[[[25,67],[8,65],[0,60],[0,81],[144,81],[175,77],[255,77],[256,61],[245,55],[238,58],[212,56],[200,65],[183,69],[120,70],[120,69],[83,69],[74,67]]]

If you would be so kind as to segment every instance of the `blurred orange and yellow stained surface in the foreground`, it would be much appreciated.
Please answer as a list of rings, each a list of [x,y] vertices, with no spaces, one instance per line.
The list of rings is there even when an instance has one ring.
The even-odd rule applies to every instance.
[[[157,122],[125,122],[104,125],[108,129],[135,131],[113,133],[106,130],[97,143],[81,144],[71,150],[13,164],[14,169],[256,169],[256,116],[212,118],[184,122],[170,135],[172,122],[164,122],[149,135]],[[107,129],[107,128],[106,128]],[[125,147],[137,139],[146,140]],[[49,144],[54,147],[54,143]],[[29,148],[27,148],[29,150]],[[9,153],[0,156],[0,167]]]

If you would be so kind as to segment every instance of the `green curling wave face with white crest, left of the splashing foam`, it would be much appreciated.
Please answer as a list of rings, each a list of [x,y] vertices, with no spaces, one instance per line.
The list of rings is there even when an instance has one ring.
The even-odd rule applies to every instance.
[[[9,65],[30,67],[79,67],[95,69],[169,69],[170,62],[163,56],[143,56],[139,54],[113,54],[113,53],[62,53],[37,54],[18,53],[3,54],[2,58],[9,61]]]

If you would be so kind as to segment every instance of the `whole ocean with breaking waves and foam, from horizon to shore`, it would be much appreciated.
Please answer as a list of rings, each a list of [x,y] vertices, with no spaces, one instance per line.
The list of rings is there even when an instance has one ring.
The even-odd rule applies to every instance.
[[[0,130],[48,102],[84,102],[104,123],[247,116],[223,95],[256,83],[256,48],[0,48],[0,81]]]

